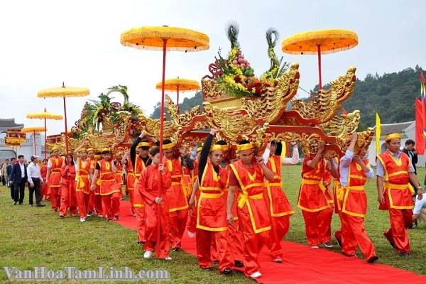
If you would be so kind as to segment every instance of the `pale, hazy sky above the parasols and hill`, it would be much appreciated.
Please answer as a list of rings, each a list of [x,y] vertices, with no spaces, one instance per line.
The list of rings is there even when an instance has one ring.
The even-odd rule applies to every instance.
[[[25,126],[42,125],[26,119],[29,112],[46,108],[63,114],[61,99],[37,97],[40,89],[62,82],[90,89],[89,97],[67,99],[69,128],[87,99],[97,99],[116,84],[125,84],[130,101],[151,114],[160,100],[155,84],[161,80],[162,53],[124,47],[119,40],[123,31],[139,26],[177,26],[209,35],[209,50],[168,53],[166,78],[200,81],[207,75],[219,48],[224,56],[229,51],[225,30],[230,21],[239,23],[241,50],[256,75],[268,70],[265,32],[276,28],[280,40],[275,51],[287,62],[300,63],[300,87],[307,90],[318,82],[316,55],[280,50],[284,38],[304,31],[342,28],[358,34],[355,48],[322,57],[323,84],[351,65],[361,79],[368,73],[426,66],[423,1],[14,0],[0,6],[0,118],[15,118]],[[299,90],[298,95],[307,94]],[[123,101],[120,94],[113,97]],[[48,121],[48,135],[63,129],[63,121]]]

